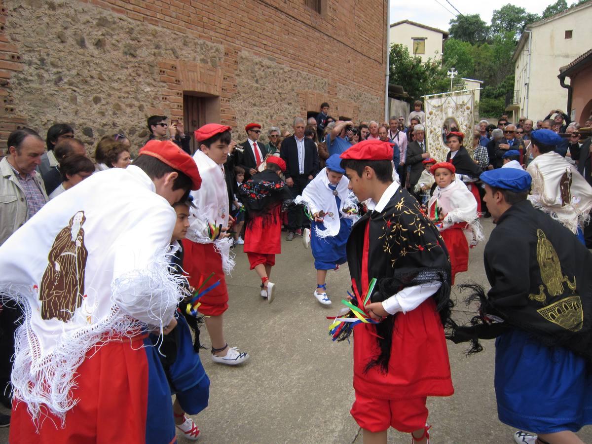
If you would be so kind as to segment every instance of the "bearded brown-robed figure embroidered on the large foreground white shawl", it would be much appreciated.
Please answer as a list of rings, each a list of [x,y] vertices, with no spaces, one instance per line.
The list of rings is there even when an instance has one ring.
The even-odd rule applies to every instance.
[[[49,251],[49,264],[41,278],[41,318],[67,322],[82,304],[84,272],[88,250],[82,225],[86,218],[78,211],[68,226],[57,233]]]

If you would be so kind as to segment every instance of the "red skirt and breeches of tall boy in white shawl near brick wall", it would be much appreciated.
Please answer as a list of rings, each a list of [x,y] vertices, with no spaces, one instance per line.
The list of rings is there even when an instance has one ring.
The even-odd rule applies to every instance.
[[[189,239],[183,239],[183,269],[187,280],[192,287],[200,286],[200,279],[207,279],[212,273],[214,276],[208,281],[213,284],[220,281],[218,287],[212,289],[200,298],[198,311],[205,316],[220,316],[228,310],[228,289],[226,278],[222,269],[222,256],[214,250],[213,243],[197,243]]]

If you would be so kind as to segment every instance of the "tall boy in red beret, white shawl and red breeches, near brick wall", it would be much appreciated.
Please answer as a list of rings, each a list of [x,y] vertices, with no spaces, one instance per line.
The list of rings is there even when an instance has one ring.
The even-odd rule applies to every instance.
[[[191,194],[195,208],[191,208],[187,237],[183,241],[185,271],[189,284],[199,287],[202,279],[212,273],[213,282],[220,285],[200,298],[200,313],[205,315],[205,327],[212,343],[214,362],[237,365],[249,359],[248,353],[229,347],[224,339],[223,314],[228,310],[228,289],[225,273],[234,268],[230,256],[232,239],[227,233],[232,219],[229,214],[229,195],[224,175],[224,163],[229,153],[230,127],[210,123],[195,130],[200,149],[193,156],[203,179],[202,188]]]

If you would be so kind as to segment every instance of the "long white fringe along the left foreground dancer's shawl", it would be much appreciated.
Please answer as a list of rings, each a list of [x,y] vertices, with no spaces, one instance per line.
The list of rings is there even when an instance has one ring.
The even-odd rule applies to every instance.
[[[27,403],[27,410],[37,424],[44,420],[41,404],[46,404],[62,420],[63,426],[66,412],[78,402],[71,393],[76,387],[74,375],[89,350],[96,352],[106,343],[106,338],[131,337],[146,329],[147,323],[134,318],[139,316],[134,307],[138,307],[144,318],[148,311],[149,324],[160,329],[162,319],[173,317],[176,305],[184,297],[179,288],[185,278],[168,270],[169,255],[162,254],[146,269],[128,272],[115,279],[111,284],[113,305],[110,314],[86,327],[64,329],[53,351],[44,359],[40,359],[43,349],[31,328],[31,304],[28,302],[38,295],[31,287],[0,287],[2,299],[17,301],[24,311],[22,325],[15,333],[11,381],[15,397]]]

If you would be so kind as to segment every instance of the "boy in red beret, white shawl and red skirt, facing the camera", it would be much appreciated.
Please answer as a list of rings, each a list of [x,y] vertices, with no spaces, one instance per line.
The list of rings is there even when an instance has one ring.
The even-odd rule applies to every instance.
[[[471,248],[483,239],[477,215],[477,202],[464,182],[455,177],[452,163],[432,165],[436,189],[430,198],[428,213],[440,236],[446,243],[452,266],[452,284],[457,273],[469,269],[469,243]]]

